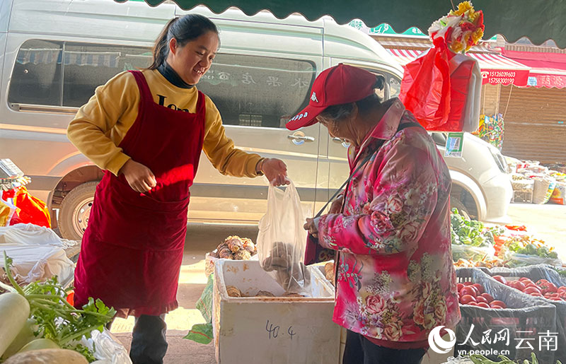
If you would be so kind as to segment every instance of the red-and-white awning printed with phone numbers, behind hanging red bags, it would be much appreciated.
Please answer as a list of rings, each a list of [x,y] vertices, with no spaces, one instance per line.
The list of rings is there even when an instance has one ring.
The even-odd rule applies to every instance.
[[[412,49],[387,49],[389,53],[405,66],[422,53]],[[482,72],[482,84],[526,86],[529,80],[529,66],[504,57],[500,54],[468,53],[478,60]]]

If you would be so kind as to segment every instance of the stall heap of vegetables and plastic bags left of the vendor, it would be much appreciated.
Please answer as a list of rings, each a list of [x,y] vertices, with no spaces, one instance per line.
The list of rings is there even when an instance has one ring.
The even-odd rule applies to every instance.
[[[100,300],[72,306],[70,258],[80,242],[49,228],[45,204],[28,194],[28,182],[11,160],[0,160],[0,362],[131,363],[104,329],[112,307]]]

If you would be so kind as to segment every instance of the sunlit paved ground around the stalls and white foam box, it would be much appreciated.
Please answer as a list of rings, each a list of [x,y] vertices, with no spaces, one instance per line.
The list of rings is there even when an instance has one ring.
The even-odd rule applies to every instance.
[[[516,224],[529,225],[533,232],[557,247],[566,262],[566,206],[512,204],[509,216]],[[183,339],[193,324],[204,322],[195,308],[207,280],[204,276],[204,254],[211,251],[225,237],[240,235],[255,241],[258,230],[253,226],[189,225],[185,245],[185,257],[181,269],[178,301],[179,308],[166,317],[169,342],[166,364],[213,364],[216,363],[214,345],[197,344]],[[112,333],[129,350],[133,318],[117,319]],[[439,356],[425,358],[426,364],[440,364]]]

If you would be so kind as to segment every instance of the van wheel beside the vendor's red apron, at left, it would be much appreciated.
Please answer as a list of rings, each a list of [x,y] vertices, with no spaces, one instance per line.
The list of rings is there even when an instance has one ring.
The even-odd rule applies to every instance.
[[[81,240],[88,225],[98,181],[86,182],[71,189],[59,209],[59,231],[64,239]]]

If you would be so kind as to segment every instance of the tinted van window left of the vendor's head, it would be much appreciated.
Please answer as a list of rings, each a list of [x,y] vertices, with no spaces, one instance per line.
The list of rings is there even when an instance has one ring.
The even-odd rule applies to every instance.
[[[146,47],[28,40],[16,57],[8,102],[80,107],[116,74],[150,63]]]

